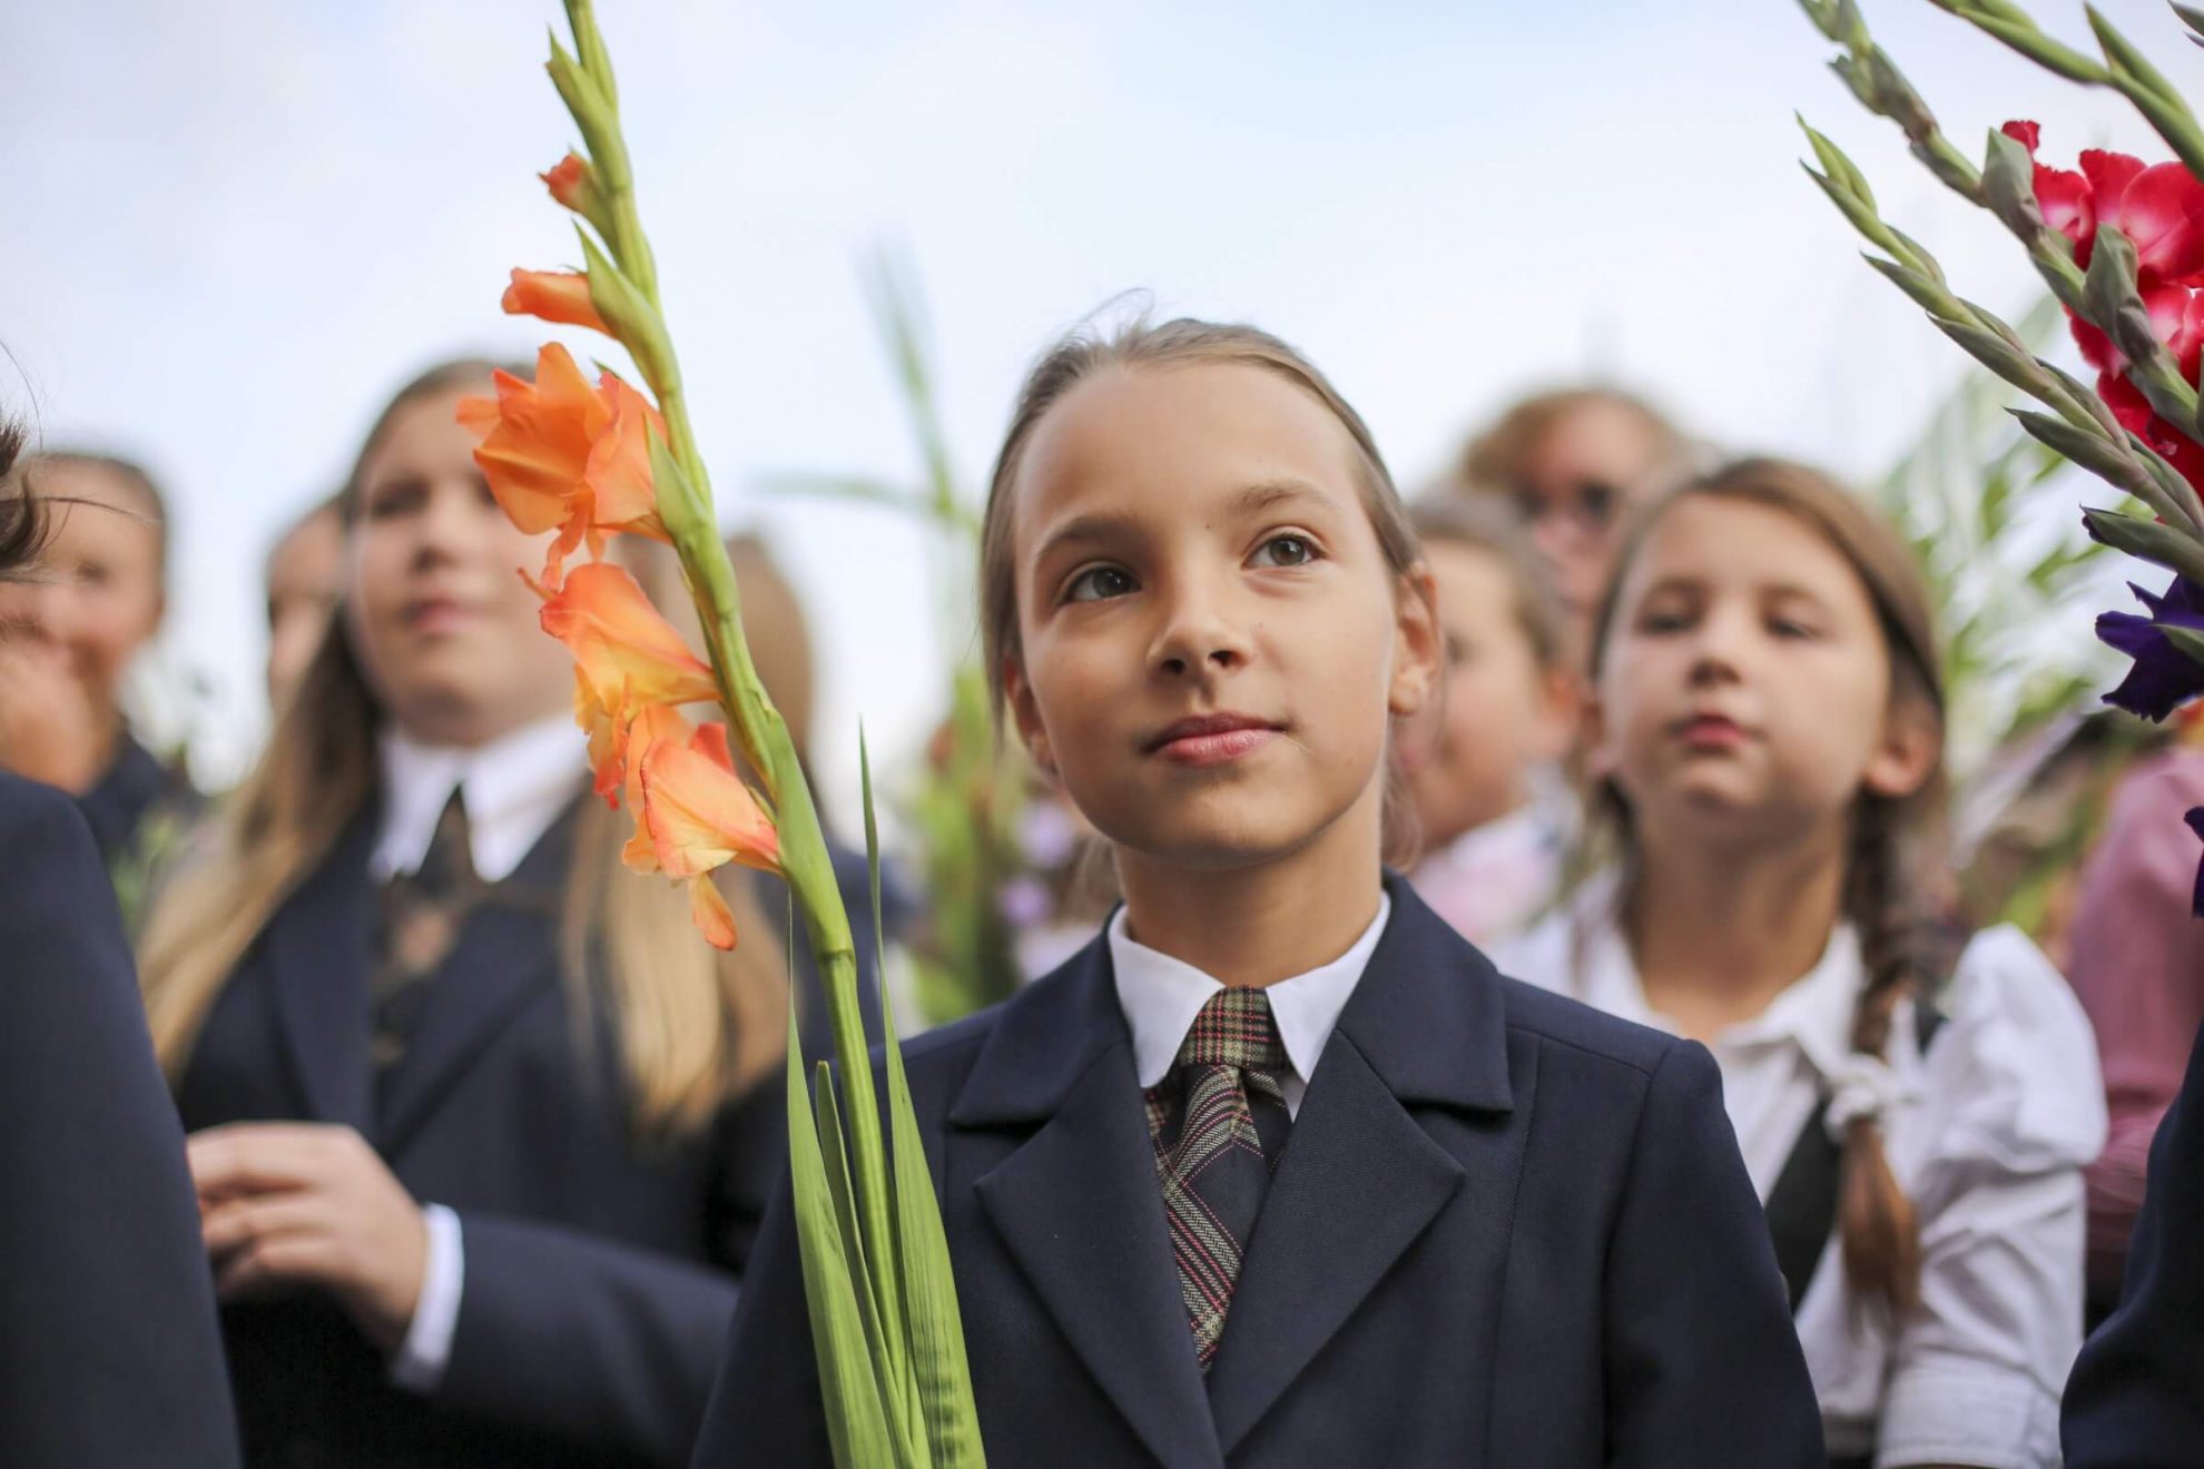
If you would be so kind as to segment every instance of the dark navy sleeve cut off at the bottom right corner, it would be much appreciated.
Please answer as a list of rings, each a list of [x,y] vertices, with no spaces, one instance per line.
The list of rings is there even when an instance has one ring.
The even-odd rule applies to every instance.
[[[2151,1139],[2120,1308],[2067,1379],[2059,1434],[2070,1469],[2173,1465],[2204,1440],[2204,1031]]]

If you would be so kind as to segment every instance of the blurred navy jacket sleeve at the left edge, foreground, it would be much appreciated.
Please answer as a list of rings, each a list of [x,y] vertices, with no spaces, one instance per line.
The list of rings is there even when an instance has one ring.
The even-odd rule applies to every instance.
[[[0,1462],[238,1462],[183,1128],[71,799],[0,775]]]

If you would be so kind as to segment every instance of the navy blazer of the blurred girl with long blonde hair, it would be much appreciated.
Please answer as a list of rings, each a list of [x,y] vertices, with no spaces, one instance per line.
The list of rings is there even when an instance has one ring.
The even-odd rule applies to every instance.
[[[573,808],[514,874],[555,903]],[[458,1214],[452,1354],[434,1394],[326,1297],[223,1310],[249,1465],[681,1465],[787,1158],[782,1079],[705,1136],[637,1139],[611,1031],[577,1026],[551,907],[469,916],[381,1101],[368,1062],[377,885],[361,813],[247,951],[179,1086],[185,1128],[357,1128]],[[613,881],[641,881],[615,874]]]

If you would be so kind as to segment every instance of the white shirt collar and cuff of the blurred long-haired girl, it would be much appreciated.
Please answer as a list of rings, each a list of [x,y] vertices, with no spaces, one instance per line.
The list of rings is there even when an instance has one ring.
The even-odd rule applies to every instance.
[[[522,725],[478,749],[423,744],[390,727],[379,736],[383,819],[368,857],[377,881],[414,872],[428,855],[452,791],[467,802],[467,848],[487,881],[511,877],[582,788],[586,747],[566,716]],[[421,1205],[428,1260],[406,1339],[390,1359],[390,1381],[412,1392],[434,1392],[452,1361],[458,1297],[467,1255],[458,1216],[445,1205]]]

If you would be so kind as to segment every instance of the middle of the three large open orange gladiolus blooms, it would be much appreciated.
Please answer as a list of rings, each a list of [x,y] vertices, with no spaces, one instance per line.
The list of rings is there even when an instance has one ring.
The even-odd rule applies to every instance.
[[[544,599],[542,625],[573,650],[573,718],[588,731],[597,795],[617,806],[637,711],[716,698],[712,667],[659,617],[635,577],[611,562],[575,566]]]

